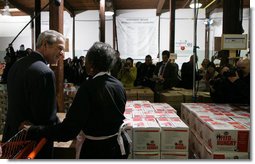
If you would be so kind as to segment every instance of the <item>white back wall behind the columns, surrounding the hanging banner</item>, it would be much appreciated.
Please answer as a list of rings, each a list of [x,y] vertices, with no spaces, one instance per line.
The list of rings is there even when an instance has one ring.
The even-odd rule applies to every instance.
[[[189,56],[193,54],[194,43],[194,20],[192,9],[177,9],[175,20],[175,53],[178,57],[176,62],[179,67],[184,61],[187,61]],[[156,15],[156,10],[119,10],[117,16],[121,17],[152,17]],[[243,27],[245,33],[249,30],[249,17],[250,13],[248,9],[244,9]],[[169,49],[169,12],[163,13],[160,16],[160,42],[159,51]],[[216,10],[211,16],[214,19],[214,24],[210,28],[210,56],[214,54],[214,37],[221,36],[222,33],[222,11]],[[205,25],[204,25],[205,11],[199,10],[198,22],[197,22],[197,45],[200,49],[197,49],[199,56],[199,63],[202,62],[205,49]],[[43,12],[42,16],[42,31],[49,28],[49,14]],[[64,13],[64,35],[69,38],[69,52],[66,52],[65,58],[73,56],[72,54],[72,31],[73,31],[73,18],[65,12]],[[5,56],[5,49],[12,39],[19,33],[19,31],[30,21],[29,16],[25,17],[11,17],[9,19],[3,19],[0,16],[0,61],[3,61]],[[106,29],[105,40],[110,45],[113,45],[113,23],[112,17],[106,17]],[[86,51],[95,42],[99,41],[99,12],[98,11],[85,11],[78,14],[75,17],[75,55],[86,55]],[[249,34],[249,33],[248,33]],[[17,50],[20,44],[24,44],[25,47],[31,47],[31,30],[28,26],[25,31],[14,42],[13,46]],[[181,47],[185,47],[184,50]],[[144,57],[139,57],[144,58]],[[154,59],[157,62],[160,59]]]

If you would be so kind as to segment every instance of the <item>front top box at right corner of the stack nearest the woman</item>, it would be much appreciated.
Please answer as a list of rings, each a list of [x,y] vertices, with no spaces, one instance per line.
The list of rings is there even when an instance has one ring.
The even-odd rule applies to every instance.
[[[157,118],[161,127],[161,151],[188,151],[189,127],[180,118]]]

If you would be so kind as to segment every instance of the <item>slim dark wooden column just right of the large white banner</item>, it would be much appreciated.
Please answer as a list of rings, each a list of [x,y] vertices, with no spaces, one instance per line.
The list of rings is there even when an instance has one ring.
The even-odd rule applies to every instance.
[[[175,49],[175,0],[170,0],[170,53],[174,53]]]

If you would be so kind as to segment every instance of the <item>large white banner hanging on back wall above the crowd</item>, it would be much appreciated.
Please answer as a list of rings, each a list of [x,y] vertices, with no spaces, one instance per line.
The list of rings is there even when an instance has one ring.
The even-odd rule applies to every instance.
[[[158,17],[116,18],[118,49],[122,59],[156,58],[158,54]]]

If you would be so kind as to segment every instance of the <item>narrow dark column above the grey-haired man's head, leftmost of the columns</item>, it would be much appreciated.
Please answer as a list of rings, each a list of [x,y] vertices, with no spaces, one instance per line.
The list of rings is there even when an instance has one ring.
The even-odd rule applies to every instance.
[[[39,34],[41,33],[41,0],[35,0],[35,40],[37,40]]]

